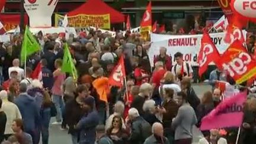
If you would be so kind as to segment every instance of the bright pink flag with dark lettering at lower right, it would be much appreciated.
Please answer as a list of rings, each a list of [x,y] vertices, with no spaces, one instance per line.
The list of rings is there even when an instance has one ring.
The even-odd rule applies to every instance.
[[[223,100],[214,110],[201,120],[200,130],[241,126],[246,99],[246,92],[241,92],[233,97]]]

